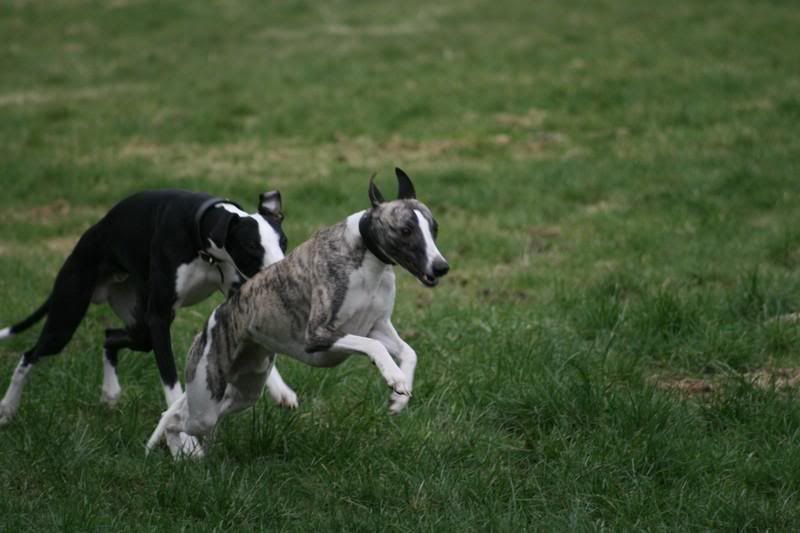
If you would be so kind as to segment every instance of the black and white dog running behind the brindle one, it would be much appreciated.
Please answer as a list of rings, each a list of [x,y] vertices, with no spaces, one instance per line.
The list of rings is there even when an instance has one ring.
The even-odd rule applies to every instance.
[[[22,322],[0,330],[0,338],[9,337],[47,316],[0,402],[0,425],[17,412],[34,363],[64,348],[89,303],[108,303],[125,323],[125,328],[105,332],[102,399],[113,405],[119,398],[120,349],[152,350],[171,405],[182,394],[170,339],[175,310],[216,290],[229,294],[283,259],[281,209],[277,191],[261,194],[253,214],[228,200],[181,190],[145,191],[115,205],[81,236],[44,304]],[[297,404],[277,371],[268,386],[279,403]]]

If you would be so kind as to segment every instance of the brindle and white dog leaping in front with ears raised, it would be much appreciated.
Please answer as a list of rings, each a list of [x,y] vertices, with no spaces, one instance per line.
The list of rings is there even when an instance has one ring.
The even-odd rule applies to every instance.
[[[189,350],[186,392],[164,412],[148,450],[166,435],[173,455],[201,456],[196,441],[180,435],[205,435],[220,417],[253,405],[276,352],[321,367],[366,355],[392,388],[389,411],[406,406],[417,356],[391,322],[392,267],[428,287],[450,267],[430,210],[396,173],[398,200],[385,202],[370,181],[371,209],[320,230],[214,310]]]

